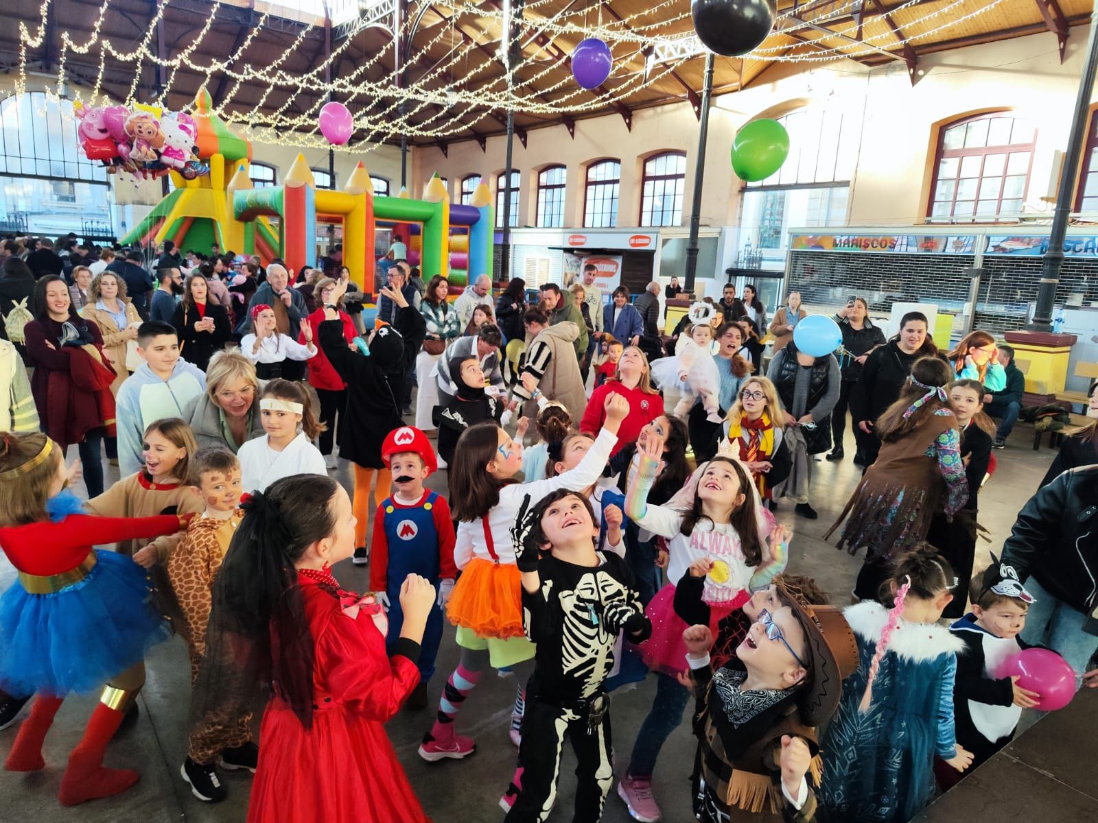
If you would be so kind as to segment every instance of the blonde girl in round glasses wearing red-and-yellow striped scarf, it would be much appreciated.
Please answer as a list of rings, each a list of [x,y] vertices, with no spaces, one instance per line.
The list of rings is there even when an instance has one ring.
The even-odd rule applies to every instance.
[[[789,473],[789,450],[782,440],[786,415],[777,388],[766,377],[747,377],[728,409],[725,437],[733,454],[751,470],[759,496],[771,511],[777,508],[774,486]]]

